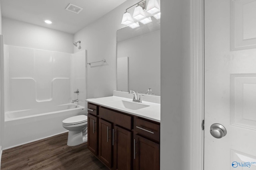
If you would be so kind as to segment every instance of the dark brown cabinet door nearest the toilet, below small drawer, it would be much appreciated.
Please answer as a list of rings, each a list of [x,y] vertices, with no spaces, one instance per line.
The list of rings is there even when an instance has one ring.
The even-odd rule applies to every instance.
[[[88,149],[94,154],[98,154],[98,117],[88,114]]]

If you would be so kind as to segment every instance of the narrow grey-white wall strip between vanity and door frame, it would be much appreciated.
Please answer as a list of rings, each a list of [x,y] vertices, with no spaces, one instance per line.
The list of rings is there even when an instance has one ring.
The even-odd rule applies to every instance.
[[[162,170],[190,169],[190,0],[161,0]]]

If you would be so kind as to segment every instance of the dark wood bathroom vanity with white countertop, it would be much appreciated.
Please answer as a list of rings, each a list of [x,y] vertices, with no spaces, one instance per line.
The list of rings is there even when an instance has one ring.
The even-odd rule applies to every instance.
[[[87,102],[92,154],[113,170],[160,169],[160,104],[137,106],[129,103],[131,98],[117,96]]]

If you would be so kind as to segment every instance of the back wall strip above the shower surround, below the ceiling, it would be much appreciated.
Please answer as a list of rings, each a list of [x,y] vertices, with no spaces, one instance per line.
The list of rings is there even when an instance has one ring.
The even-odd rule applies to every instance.
[[[73,53],[73,34],[22,21],[2,18],[4,44],[48,51]]]

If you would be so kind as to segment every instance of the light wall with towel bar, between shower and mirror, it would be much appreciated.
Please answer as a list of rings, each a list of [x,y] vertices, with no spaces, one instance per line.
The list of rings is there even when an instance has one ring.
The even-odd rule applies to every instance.
[[[116,90],[116,31],[121,24],[126,8],[138,0],[127,0],[99,20],[84,27],[74,35],[74,41],[81,41],[81,50],[87,50],[87,61],[106,59],[106,63],[87,66],[87,98],[112,96]],[[79,51],[74,47],[74,52]]]

